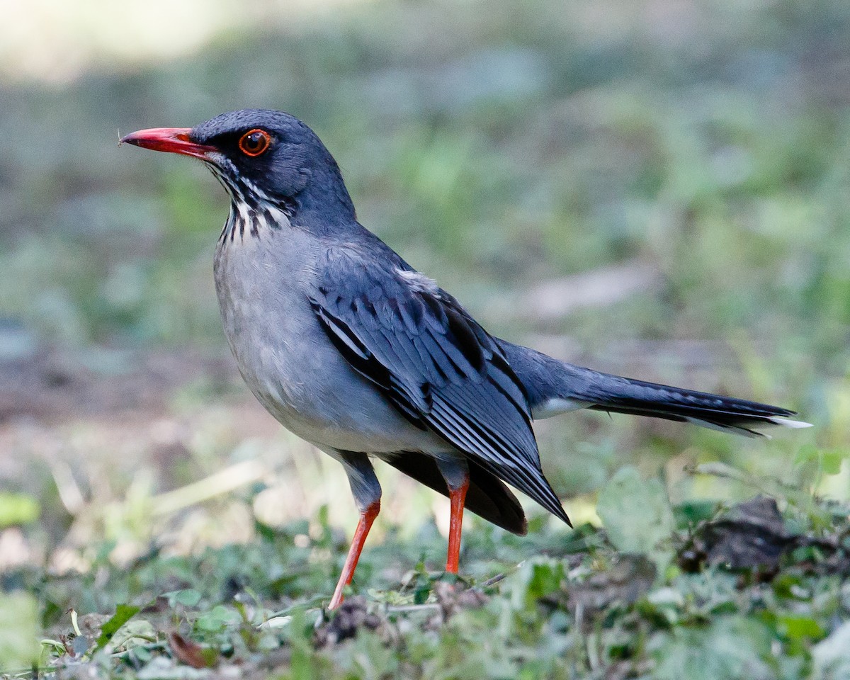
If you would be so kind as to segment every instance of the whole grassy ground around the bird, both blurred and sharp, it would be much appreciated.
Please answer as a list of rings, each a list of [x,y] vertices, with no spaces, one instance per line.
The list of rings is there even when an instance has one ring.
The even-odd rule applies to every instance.
[[[0,675],[850,677],[848,35],[838,0],[387,0],[0,83]],[[328,615],[353,506],[233,371],[224,195],[115,144],[247,105],[490,331],[817,427],[541,422],[576,530],[471,519],[458,582],[445,503],[379,470]]]

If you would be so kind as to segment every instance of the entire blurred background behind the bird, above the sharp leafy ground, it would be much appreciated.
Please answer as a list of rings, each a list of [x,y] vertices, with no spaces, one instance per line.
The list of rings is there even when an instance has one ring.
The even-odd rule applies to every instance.
[[[674,501],[745,479],[850,496],[845,0],[2,6],[0,565],[353,526],[342,470],[266,415],[225,346],[224,192],[117,146],[249,106],[313,127],[360,221],[491,332],[817,425],[540,423],[578,522],[626,462]],[[737,473],[691,472],[706,462]],[[443,529],[442,498],[379,473],[378,534]]]

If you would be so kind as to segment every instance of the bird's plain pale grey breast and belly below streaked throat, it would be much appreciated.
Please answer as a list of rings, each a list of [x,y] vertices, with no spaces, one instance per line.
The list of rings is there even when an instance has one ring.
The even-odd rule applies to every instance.
[[[297,232],[286,232],[297,238]],[[284,427],[322,449],[387,453],[445,448],[405,420],[337,352],[309,305],[309,262],[263,239],[219,244],[218,303],[239,371]],[[309,252],[288,242],[287,253]]]

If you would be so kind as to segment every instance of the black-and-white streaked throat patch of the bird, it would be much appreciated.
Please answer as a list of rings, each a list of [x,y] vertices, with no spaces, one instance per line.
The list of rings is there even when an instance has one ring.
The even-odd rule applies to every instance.
[[[207,167],[230,196],[230,213],[218,236],[219,242],[242,242],[246,236],[260,239],[289,225],[292,202],[271,198],[238,173],[225,173],[212,163],[207,163]]]

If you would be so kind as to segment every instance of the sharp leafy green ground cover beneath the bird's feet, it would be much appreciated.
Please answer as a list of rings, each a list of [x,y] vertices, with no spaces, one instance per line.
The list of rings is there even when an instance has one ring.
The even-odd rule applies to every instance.
[[[28,661],[59,677],[844,677],[846,506],[790,492],[781,515],[768,496],[731,510],[671,507],[649,484],[648,508],[646,489],[634,468],[615,476],[599,501],[607,534],[539,516],[526,539],[476,525],[461,579],[427,570],[445,549],[433,525],[415,541],[385,536],[334,615],[321,607],[347,546],[326,511],[312,524],[258,524],[246,545],[190,556],[151,547],[120,567],[106,544],[80,574],[16,576],[0,619],[26,644],[5,651],[21,666],[7,670],[27,676]],[[38,649],[42,626],[64,632]]]

